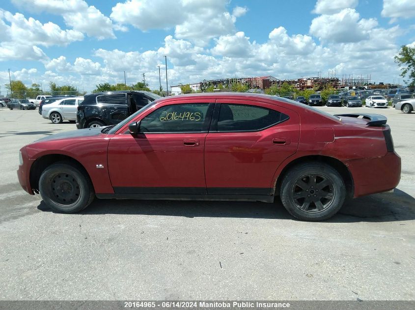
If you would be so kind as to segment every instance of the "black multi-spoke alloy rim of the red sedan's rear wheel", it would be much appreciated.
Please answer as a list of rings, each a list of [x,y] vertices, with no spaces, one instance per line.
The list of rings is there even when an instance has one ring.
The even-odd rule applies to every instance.
[[[321,173],[308,173],[297,179],[291,199],[300,210],[319,213],[329,208],[335,197],[334,183]]]

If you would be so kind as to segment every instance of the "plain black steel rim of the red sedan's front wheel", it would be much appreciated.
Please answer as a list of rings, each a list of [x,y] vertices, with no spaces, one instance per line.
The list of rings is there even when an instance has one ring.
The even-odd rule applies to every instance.
[[[50,194],[55,203],[70,207],[80,199],[81,187],[69,173],[57,173],[51,179]]]

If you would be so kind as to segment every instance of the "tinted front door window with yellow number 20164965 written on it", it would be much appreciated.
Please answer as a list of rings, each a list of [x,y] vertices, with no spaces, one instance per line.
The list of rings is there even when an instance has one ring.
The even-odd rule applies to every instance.
[[[161,107],[141,120],[140,132],[207,131],[208,108],[209,103],[173,104]]]

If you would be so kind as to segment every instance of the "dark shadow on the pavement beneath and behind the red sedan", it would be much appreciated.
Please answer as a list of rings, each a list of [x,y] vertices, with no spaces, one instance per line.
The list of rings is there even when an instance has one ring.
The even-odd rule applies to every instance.
[[[51,210],[42,201],[38,209]],[[292,219],[279,199],[275,203],[235,201],[167,201],[95,199],[80,214],[165,215],[185,217],[236,217]],[[339,213],[326,222],[390,222],[415,219],[415,199],[395,189],[347,201]]]

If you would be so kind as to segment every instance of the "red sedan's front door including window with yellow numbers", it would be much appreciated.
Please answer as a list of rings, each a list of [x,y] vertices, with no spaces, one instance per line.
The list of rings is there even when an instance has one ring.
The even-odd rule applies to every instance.
[[[169,103],[147,114],[138,135],[111,138],[108,167],[115,193],[205,194],[203,151],[214,104]]]

